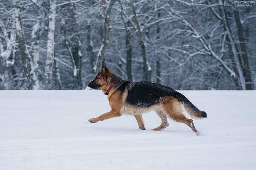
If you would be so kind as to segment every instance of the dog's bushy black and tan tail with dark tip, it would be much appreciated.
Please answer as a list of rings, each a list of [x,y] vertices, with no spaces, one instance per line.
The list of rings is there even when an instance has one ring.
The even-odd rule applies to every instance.
[[[206,118],[207,117],[206,112],[200,111],[183,94],[177,92],[175,98],[178,99],[180,103],[182,103],[185,110],[191,115],[191,117],[195,117],[195,118]]]

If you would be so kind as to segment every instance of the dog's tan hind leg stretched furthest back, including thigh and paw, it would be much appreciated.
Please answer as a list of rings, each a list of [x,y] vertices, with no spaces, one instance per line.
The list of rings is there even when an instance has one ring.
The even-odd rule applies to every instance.
[[[173,97],[165,97],[165,99],[162,100],[161,105],[168,117],[172,118],[177,122],[186,124],[192,129],[192,131],[194,131],[198,135],[198,131],[195,128],[193,120],[188,119],[183,115],[181,103],[177,99]]]

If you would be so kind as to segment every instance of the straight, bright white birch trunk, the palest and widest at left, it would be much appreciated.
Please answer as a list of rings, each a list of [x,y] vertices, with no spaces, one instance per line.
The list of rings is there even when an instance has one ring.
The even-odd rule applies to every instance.
[[[52,88],[52,69],[54,62],[54,31],[55,31],[55,17],[56,17],[56,0],[50,1],[50,14],[48,17],[48,40],[47,40],[47,55],[44,69],[45,89]]]

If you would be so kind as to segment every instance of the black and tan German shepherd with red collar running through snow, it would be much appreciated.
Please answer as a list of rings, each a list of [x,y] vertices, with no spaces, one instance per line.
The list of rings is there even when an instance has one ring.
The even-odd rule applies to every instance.
[[[152,82],[129,82],[117,77],[102,62],[102,70],[91,80],[88,87],[101,88],[107,95],[111,111],[96,118],[90,118],[91,123],[96,123],[122,114],[134,115],[139,129],[145,130],[142,114],[154,110],[161,118],[160,126],[152,129],[161,131],[169,126],[167,117],[180,123],[185,123],[198,135],[193,120],[186,118],[182,113],[182,106],[195,118],[206,118],[207,114],[200,111],[183,94],[172,88]]]

